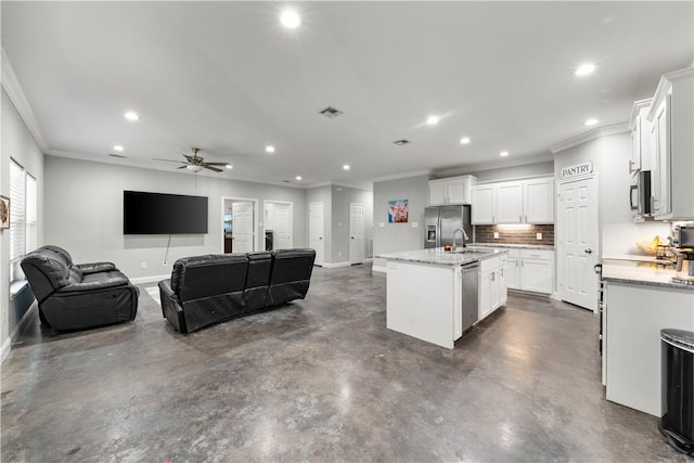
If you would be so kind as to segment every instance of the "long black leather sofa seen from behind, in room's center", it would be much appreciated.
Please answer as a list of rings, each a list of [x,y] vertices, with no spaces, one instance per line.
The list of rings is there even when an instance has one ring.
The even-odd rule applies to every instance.
[[[180,333],[304,299],[313,249],[185,257],[159,282],[163,316]]]

